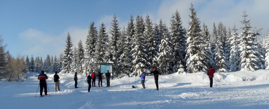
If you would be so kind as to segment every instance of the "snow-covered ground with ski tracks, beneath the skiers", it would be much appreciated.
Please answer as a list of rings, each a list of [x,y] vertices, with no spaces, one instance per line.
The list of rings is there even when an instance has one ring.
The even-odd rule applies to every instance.
[[[217,74],[219,83],[214,78],[213,88],[204,72],[161,75],[159,91],[154,90],[153,76],[146,76],[146,89],[141,89],[139,77],[126,76],[111,80],[111,87],[92,87],[89,93],[82,74],[78,89],[70,89],[74,74],[58,74],[61,91],[54,92],[52,73],[47,74],[51,95],[41,98],[38,74],[27,75],[24,82],[0,81],[1,109],[269,109],[269,70]]]

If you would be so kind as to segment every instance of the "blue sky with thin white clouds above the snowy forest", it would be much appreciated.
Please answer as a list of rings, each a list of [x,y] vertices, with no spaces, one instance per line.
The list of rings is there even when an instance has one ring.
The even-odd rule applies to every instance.
[[[239,21],[246,10],[251,26],[263,28],[260,37],[268,32],[268,0],[1,0],[0,34],[14,57],[59,57],[68,32],[74,46],[79,40],[85,43],[90,23],[95,22],[99,29],[103,22],[108,32],[114,14],[121,27],[127,26],[130,15],[145,17],[147,13],[153,22],[162,19],[169,26],[172,13],[178,10],[184,28],[188,28],[191,2],[210,31],[213,22],[241,27]]]

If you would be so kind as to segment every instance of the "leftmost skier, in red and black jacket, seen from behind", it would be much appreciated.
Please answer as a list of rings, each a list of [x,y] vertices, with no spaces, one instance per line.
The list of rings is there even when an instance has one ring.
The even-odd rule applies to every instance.
[[[43,93],[43,88],[45,95],[48,95],[47,91],[47,82],[46,79],[48,79],[48,76],[44,73],[44,70],[41,71],[41,73],[37,76],[37,79],[39,80],[39,85],[40,85],[40,96],[42,96]]]

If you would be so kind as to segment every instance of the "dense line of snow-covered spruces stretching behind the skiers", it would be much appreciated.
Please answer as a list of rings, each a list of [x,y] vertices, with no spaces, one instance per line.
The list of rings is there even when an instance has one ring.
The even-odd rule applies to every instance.
[[[264,40],[256,36],[261,29],[251,30],[250,20],[243,12],[244,26],[230,28],[219,22],[213,23],[213,30],[209,32],[206,24],[202,24],[196,16],[191,4],[189,28],[182,26],[181,16],[176,10],[172,14],[170,27],[162,20],[152,23],[149,15],[145,18],[131,15],[127,27],[120,27],[114,15],[111,27],[106,32],[102,23],[97,30],[94,22],[90,24],[85,47],[82,40],[76,47],[68,33],[65,40],[65,50],[57,58],[47,56],[42,58],[26,57],[25,72],[62,72],[85,73],[99,71],[98,62],[113,61],[113,73],[121,78],[127,73],[138,75],[141,70],[150,72],[157,67],[163,74],[181,72],[206,71],[210,66],[219,72],[227,71],[255,71],[269,68],[269,32]],[[241,32],[238,32],[240,29]],[[87,56],[88,59],[84,59]],[[95,63],[93,69],[89,66]],[[2,73],[1,73],[2,74]]]

